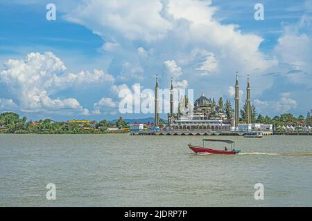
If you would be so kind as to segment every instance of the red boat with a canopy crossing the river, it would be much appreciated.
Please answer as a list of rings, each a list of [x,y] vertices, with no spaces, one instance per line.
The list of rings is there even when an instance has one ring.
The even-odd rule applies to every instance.
[[[230,149],[225,148],[220,151],[216,149],[206,148],[205,142],[222,142],[225,144],[231,144]],[[189,148],[194,151],[195,153],[209,153],[209,154],[226,154],[226,155],[235,155],[237,153],[240,153],[241,150],[235,150],[235,142],[232,140],[211,140],[211,139],[204,139],[202,140],[203,146],[193,146],[189,144]]]

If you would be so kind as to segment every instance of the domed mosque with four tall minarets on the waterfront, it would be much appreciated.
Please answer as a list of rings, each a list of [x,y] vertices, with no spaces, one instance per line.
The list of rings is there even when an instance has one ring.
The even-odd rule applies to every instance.
[[[193,108],[178,108],[177,113],[174,113],[173,100],[173,82],[171,81],[171,96],[170,96],[170,113],[168,113],[168,125],[164,128],[167,131],[267,131],[272,132],[272,125],[252,124],[252,105],[250,99],[250,79],[247,82],[247,97],[246,97],[246,115],[247,123],[240,124],[239,122],[239,78],[236,75],[235,84],[235,107],[234,114],[229,116],[225,114],[224,108],[218,106],[216,102],[211,101],[202,93],[193,104]],[[187,99],[184,97],[183,99]],[[180,103],[185,100],[179,101]],[[159,87],[156,79],[155,86],[155,125],[159,126]],[[182,105],[184,106],[184,105]]]

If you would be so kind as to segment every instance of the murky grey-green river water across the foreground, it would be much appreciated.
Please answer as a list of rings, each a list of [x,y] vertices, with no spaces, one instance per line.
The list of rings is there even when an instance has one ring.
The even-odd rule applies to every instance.
[[[243,153],[193,154],[202,138],[2,134],[0,206],[312,206],[312,136],[211,137]]]

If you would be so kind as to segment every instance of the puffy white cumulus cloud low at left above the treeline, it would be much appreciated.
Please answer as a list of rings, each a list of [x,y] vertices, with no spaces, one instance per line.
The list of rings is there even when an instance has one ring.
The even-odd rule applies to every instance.
[[[37,112],[75,112],[78,115],[88,115],[86,108],[74,98],[56,98],[53,96],[59,90],[72,86],[96,84],[98,82],[113,82],[114,78],[103,70],[94,73],[80,72],[65,74],[67,68],[52,52],[30,53],[25,60],[9,59],[3,70],[0,70],[0,81],[18,104],[19,111]],[[1,102],[3,103],[3,102]],[[8,101],[6,101],[6,104]]]

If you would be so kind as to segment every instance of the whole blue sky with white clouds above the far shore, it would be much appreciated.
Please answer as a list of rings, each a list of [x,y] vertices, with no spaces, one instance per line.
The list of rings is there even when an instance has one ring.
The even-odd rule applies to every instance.
[[[56,20],[47,20],[48,3]],[[254,19],[263,5],[264,20]],[[121,90],[193,89],[262,115],[312,109],[312,0],[0,0],[0,113],[116,119]],[[153,101],[153,95],[148,97]],[[152,102],[153,103],[153,102]],[[166,115],[162,115],[166,118]]]

